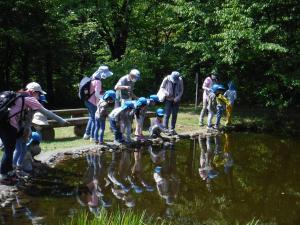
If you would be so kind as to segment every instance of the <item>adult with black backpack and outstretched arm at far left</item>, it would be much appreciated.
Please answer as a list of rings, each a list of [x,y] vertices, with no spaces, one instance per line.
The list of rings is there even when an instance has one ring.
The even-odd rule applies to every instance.
[[[46,94],[46,92],[36,82],[27,84],[25,91],[20,91],[19,93],[2,92],[0,94],[1,113],[3,112],[2,106],[5,105],[5,102],[10,102],[6,105],[7,115],[4,117],[1,116],[2,119],[0,120],[0,138],[4,145],[4,153],[0,166],[1,184],[10,185],[15,181],[12,160],[16,141],[17,139],[25,141],[26,138],[30,137],[30,126],[34,112],[41,112],[48,118],[58,121],[60,124],[67,123],[66,120],[47,110],[39,103],[38,100],[41,94]],[[26,151],[26,147],[19,150],[24,152]]]

